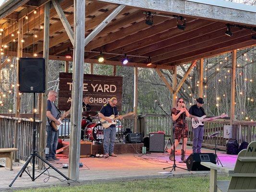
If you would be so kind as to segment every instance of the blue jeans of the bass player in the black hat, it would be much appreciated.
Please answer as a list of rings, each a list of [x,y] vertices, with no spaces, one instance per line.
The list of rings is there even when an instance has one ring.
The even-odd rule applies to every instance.
[[[193,147],[192,147],[193,153],[201,153],[203,136],[204,136],[204,126],[199,125],[195,129],[193,129]]]

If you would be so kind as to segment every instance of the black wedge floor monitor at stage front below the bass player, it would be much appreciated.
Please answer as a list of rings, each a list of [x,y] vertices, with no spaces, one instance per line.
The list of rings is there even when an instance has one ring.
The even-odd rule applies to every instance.
[[[187,169],[190,171],[207,171],[210,168],[201,165],[201,162],[216,164],[214,153],[193,153],[186,159]]]

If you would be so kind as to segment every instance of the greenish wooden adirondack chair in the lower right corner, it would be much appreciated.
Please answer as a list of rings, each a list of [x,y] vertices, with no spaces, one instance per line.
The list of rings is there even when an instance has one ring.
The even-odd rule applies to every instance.
[[[234,169],[210,162],[201,162],[201,165],[210,168],[209,192],[256,192],[256,141],[238,154]],[[217,170],[227,172],[231,180],[217,180]]]

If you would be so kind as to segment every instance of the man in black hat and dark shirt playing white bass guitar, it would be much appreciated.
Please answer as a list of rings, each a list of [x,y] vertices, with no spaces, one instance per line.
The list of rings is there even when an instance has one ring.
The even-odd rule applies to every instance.
[[[206,115],[205,109],[202,107],[204,104],[203,98],[198,97],[196,99],[196,104],[191,106],[189,109],[189,114],[196,117],[202,117]],[[193,129],[193,153],[201,153],[201,147],[204,135],[204,125],[199,125],[197,128]]]

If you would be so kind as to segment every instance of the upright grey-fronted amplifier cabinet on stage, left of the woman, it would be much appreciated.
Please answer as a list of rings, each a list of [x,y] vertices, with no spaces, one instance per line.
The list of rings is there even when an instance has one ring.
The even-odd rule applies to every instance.
[[[164,152],[164,134],[157,132],[149,133],[149,151]]]

